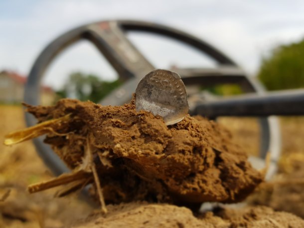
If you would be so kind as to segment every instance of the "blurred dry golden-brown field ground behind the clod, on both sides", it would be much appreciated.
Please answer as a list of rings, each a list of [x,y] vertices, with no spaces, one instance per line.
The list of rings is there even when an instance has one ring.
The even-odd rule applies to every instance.
[[[259,127],[256,119],[225,118],[221,122],[233,131],[236,140],[249,153],[257,154]],[[287,179],[293,179],[294,182],[292,185],[262,186],[250,201],[252,204],[293,212],[304,218],[304,117],[281,118],[281,123],[284,159],[281,161],[282,174],[276,183],[287,183]],[[4,134],[24,126],[21,106],[0,106],[1,140]],[[92,212],[76,196],[53,199],[53,191],[34,195],[26,193],[27,185],[50,178],[50,172],[36,155],[31,142],[12,147],[4,147],[0,143],[0,227],[61,228],[75,218],[85,218]]]

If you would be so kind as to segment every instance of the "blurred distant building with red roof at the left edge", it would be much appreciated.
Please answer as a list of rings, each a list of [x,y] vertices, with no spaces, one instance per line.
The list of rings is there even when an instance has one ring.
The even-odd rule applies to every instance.
[[[0,103],[12,104],[23,102],[26,77],[13,71],[0,71]],[[41,87],[41,104],[50,105],[54,102],[55,92],[51,87]]]

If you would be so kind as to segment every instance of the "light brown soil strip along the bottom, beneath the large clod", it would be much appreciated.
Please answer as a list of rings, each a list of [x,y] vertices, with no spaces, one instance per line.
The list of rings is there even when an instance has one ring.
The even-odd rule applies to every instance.
[[[218,208],[197,217],[184,207],[143,202],[111,205],[107,215],[94,215],[78,221],[73,228],[301,228],[304,221],[267,207],[245,209]]]

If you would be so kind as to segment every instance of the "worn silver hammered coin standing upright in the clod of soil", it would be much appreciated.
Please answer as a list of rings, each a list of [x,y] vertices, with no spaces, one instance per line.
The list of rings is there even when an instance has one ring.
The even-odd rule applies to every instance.
[[[178,123],[188,114],[186,88],[175,72],[152,70],[139,82],[135,93],[136,111],[160,115],[166,125]]]

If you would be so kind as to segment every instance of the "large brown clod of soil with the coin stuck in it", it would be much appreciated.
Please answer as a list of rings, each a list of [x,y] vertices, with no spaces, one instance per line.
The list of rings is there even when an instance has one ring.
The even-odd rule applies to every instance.
[[[102,106],[62,99],[55,106],[27,105],[27,111],[39,122],[69,115],[47,128],[45,143],[77,169],[89,139],[107,203],[239,202],[263,181],[229,131],[202,117],[166,126],[160,116],[136,112],[135,100]]]

